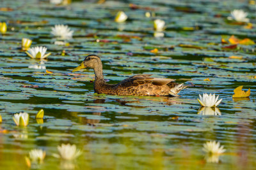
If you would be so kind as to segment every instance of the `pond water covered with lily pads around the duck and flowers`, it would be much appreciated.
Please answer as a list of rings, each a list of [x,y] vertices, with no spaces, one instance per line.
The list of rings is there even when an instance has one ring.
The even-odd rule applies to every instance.
[[[46,157],[32,169],[256,166],[255,45],[232,48],[221,43],[221,38],[228,41],[232,35],[255,40],[255,1],[0,3],[0,21],[8,25],[0,36],[1,168],[28,168],[25,157],[34,148],[45,150]],[[234,9],[248,12],[254,27],[228,21]],[[129,17],[121,24],[114,22],[119,10]],[[146,12],[154,17],[145,17]],[[166,22],[163,38],[154,37],[156,18]],[[54,45],[55,24],[74,30],[68,45]],[[22,38],[32,39],[31,46],[46,46],[51,55],[30,59],[20,50]],[[71,72],[89,54],[100,56],[108,83],[145,73],[174,78],[189,87],[180,97],[94,94],[92,69]],[[204,81],[207,78],[211,81]],[[250,98],[232,99],[240,85],[251,89]],[[203,93],[220,95],[219,111],[200,111],[196,99]],[[41,109],[43,123],[35,118]],[[13,122],[13,114],[20,111],[29,113],[28,127]],[[218,163],[207,162],[202,151],[212,140],[227,150]],[[83,154],[74,162],[52,157],[61,143],[75,144]]]

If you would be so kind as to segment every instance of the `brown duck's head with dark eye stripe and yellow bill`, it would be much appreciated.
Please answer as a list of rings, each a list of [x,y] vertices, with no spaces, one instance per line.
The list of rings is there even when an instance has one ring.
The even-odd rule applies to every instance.
[[[79,71],[80,69],[84,69],[86,67],[94,69],[99,66],[102,66],[100,57],[97,55],[88,55],[84,58],[83,62],[72,71]]]

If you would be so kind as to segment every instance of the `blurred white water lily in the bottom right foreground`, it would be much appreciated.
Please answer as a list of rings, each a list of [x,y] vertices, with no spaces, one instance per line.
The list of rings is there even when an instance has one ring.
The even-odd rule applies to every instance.
[[[209,141],[205,143],[202,150],[209,155],[220,155],[226,151],[224,146],[220,146],[220,142],[216,141]]]

